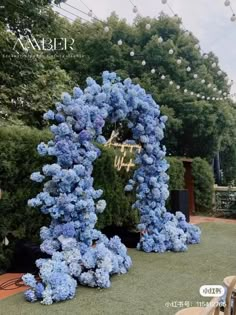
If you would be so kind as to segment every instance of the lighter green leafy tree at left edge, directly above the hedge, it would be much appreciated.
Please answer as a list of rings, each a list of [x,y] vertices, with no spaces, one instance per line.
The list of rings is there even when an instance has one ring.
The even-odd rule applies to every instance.
[[[0,123],[40,128],[42,114],[74,84],[51,53],[14,52],[16,36],[0,28]]]

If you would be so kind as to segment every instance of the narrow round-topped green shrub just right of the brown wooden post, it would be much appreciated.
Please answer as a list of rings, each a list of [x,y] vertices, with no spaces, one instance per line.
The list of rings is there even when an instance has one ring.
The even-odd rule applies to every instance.
[[[193,159],[192,174],[197,211],[212,210],[214,175],[212,167],[201,158]]]

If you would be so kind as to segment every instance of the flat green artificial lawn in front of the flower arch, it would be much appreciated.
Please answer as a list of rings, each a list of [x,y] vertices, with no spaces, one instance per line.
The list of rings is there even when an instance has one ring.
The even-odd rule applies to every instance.
[[[202,223],[202,242],[185,253],[146,254],[130,249],[130,271],[112,278],[109,289],[79,286],[71,301],[44,306],[25,302],[23,294],[0,301],[1,315],[174,315],[172,301],[209,301],[199,294],[204,284],[222,284],[236,274],[236,225]]]

